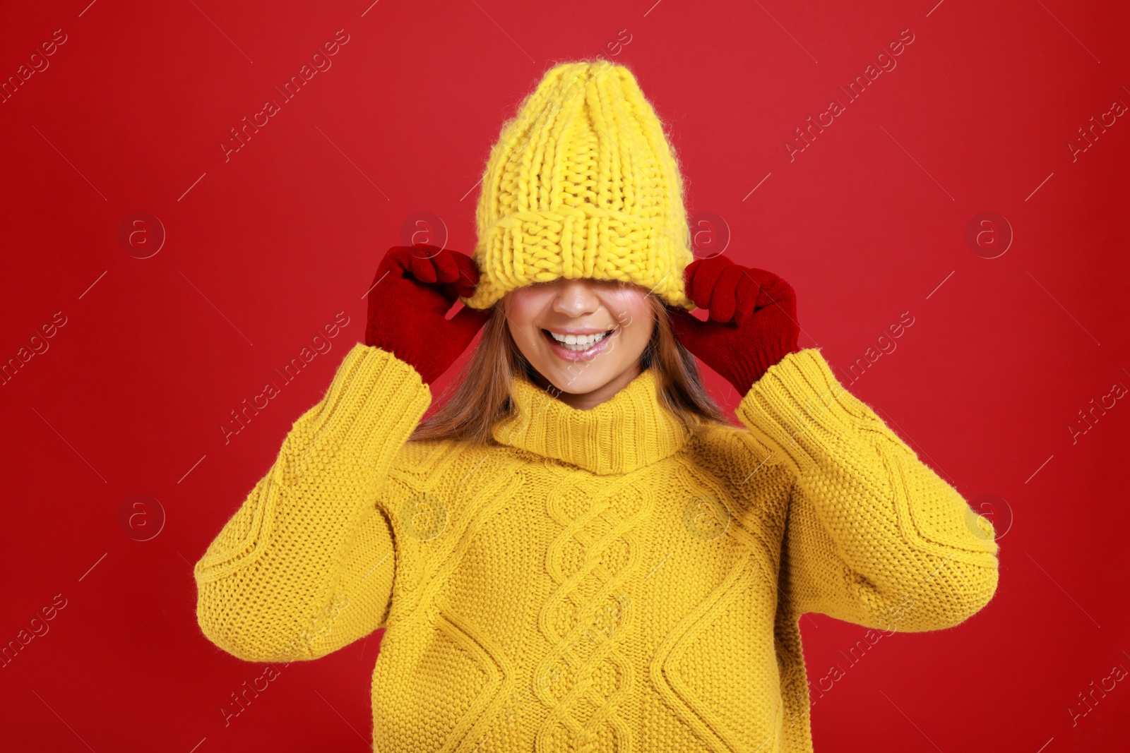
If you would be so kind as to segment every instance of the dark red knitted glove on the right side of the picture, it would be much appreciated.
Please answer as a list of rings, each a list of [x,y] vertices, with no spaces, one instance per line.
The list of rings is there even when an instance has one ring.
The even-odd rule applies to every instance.
[[[687,265],[687,297],[710,310],[699,322],[683,307],[668,307],[687,350],[745,395],[774,364],[800,350],[797,296],[772,272],[734,264],[725,256]]]

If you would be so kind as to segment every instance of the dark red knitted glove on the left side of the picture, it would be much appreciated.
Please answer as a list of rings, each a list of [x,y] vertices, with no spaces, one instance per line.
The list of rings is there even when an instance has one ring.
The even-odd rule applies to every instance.
[[[475,261],[436,246],[393,246],[381,260],[368,292],[365,344],[411,365],[432,384],[459,358],[489,318],[464,306],[444,318],[459,296],[479,282]]]

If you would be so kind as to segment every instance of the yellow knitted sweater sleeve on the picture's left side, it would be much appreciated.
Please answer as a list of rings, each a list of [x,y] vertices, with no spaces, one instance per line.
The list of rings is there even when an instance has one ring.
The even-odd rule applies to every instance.
[[[431,401],[411,366],[354,345],[195,563],[209,640],[249,662],[292,662],[384,627],[395,555],[380,497]]]

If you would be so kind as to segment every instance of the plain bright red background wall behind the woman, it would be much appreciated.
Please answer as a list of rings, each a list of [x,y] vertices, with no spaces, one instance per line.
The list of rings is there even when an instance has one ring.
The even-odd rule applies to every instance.
[[[0,669],[0,747],[366,750],[380,631],[286,666],[225,728],[220,704],[263,666],[200,633],[191,563],[363,336],[406,222],[431,212],[470,252],[503,120],[554,62],[601,53],[669,123],[703,248],[729,237],[789,280],[801,344],[967,499],[997,496],[980,509],[1002,534],[1000,587],[965,624],[851,664],[863,628],[802,621],[814,685],[843,669],[814,693],[816,750],[1124,744],[1128,683],[1074,726],[1068,708],[1130,668],[1130,405],[1075,443],[1068,427],[1130,386],[1130,117],[1076,159],[1067,143],[1130,104],[1125,3],[88,1],[0,9],[5,78],[67,35],[0,104],[0,358],[67,322],[0,387],[0,641],[67,599]],[[338,29],[332,68],[225,161],[229,129]],[[897,67],[846,103],[836,87],[903,29]],[[790,161],[784,141],[832,98],[846,111]],[[148,259],[118,239],[139,211],[167,235]],[[1015,235],[996,259],[965,239],[984,211]],[[416,239],[445,240],[431,230]],[[229,411],[338,312],[332,350],[225,444]],[[852,380],[904,312],[897,349]],[[167,516],[151,540],[119,523],[132,494]]]

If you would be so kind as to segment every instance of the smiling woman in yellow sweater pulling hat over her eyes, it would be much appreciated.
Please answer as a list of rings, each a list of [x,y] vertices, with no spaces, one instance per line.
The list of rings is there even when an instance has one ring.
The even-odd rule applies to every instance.
[[[365,343],[197,563],[217,646],[315,659],[386,628],[376,751],[800,752],[801,615],[889,634],[992,598],[992,526],[797,347],[792,288],[693,261],[627,69],[546,73],[477,221],[473,259],[385,254]]]

